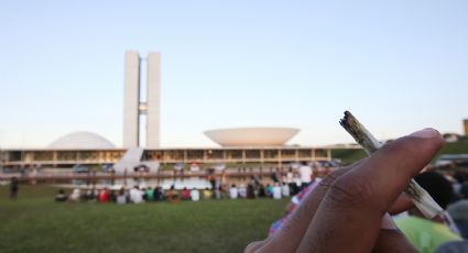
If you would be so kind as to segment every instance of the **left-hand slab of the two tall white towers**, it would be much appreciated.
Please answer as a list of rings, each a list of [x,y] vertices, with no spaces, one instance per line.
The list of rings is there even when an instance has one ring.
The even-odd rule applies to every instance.
[[[139,146],[140,130],[140,56],[126,52],[126,77],[123,88],[123,147]]]

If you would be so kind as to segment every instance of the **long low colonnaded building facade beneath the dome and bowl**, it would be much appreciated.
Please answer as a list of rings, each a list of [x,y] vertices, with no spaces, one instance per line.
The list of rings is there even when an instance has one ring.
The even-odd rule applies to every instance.
[[[2,167],[72,167],[76,164],[104,165],[117,163],[126,150],[3,150]],[[313,147],[219,147],[144,150],[142,161],[163,165],[191,164],[286,164],[292,162],[330,161],[329,148]]]

